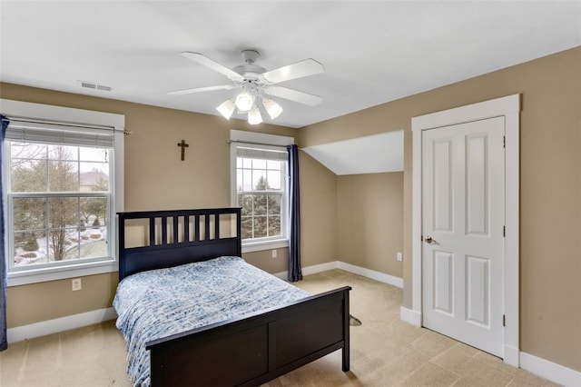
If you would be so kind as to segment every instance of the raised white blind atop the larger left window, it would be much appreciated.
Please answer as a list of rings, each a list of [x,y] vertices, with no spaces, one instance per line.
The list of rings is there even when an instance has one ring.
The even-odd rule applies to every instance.
[[[75,144],[112,148],[113,127],[75,126],[11,119],[5,139],[25,143]]]

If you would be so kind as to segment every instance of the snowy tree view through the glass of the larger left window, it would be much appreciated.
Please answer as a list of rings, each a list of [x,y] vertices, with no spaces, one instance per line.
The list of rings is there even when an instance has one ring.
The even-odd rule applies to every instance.
[[[108,149],[10,142],[11,267],[105,257]]]

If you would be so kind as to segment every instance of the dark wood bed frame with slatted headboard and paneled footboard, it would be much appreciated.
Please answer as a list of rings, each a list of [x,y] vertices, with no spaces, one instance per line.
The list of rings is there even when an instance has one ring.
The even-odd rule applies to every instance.
[[[241,256],[240,208],[118,215],[119,281],[145,270],[222,255]],[[235,229],[230,224],[228,230],[234,236],[221,237],[221,216],[235,217]],[[148,224],[149,234],[144,238],[148,245],[125,247],[125,227],[132,220]],[[152,385],[259,385],[340,349],[342,370],[348,372],[349,292],[350,287],[345,286],[243,318],[147,342]]]

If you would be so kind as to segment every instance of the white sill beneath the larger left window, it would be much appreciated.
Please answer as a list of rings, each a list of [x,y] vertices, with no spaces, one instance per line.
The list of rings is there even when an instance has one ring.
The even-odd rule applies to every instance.
[[[7,286],[19,286],[29,283],[44,283],[87,275],[111,273],[119,270],[119,263],[113,260],[78,263],[74,266],[61,266],[43,269],[31,269],[7,274]]]

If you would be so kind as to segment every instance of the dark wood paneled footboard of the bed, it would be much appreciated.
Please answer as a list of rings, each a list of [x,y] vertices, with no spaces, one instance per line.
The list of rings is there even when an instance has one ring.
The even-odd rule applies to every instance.
[[[339,349],[348,372],[350,289],[148,342],[152,385],[258,385]]]

